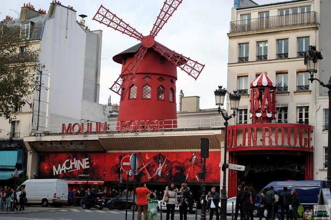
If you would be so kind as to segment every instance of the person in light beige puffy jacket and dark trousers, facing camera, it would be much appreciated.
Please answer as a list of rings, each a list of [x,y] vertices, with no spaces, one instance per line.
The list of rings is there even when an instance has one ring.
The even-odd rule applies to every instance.
[[[167,217],[166,220],[175,220],[175,206],[178,207],[178,201],[177,201],[177,192],[178,188],[175,187],[175,183],[171,182],[168,186],[166,186],[162,203],[166,203],[167,207]],[[169,219],[170,218],[170,219]]]

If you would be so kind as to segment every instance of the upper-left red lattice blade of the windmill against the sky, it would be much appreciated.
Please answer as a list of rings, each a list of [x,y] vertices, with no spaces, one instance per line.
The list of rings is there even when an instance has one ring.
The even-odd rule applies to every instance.
[[[116,14],[111,13],[107,8],[103,7],[102,4],[100,5],[99,10],[96,12],[93,20],[98,21],[107,27],[113,28],[116,31],[120,31],[130,37],[142,40],[141,33],[117,17]]]

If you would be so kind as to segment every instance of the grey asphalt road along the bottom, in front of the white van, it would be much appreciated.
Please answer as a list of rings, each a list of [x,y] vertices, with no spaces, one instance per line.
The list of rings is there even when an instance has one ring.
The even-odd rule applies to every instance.
[[[207,218],[209,219],[209,213]],[[133,219],[132,211],[128,210],[127,220],[137,220],[137,212]],[[142,215],[143,219],[143,215]],[[166,219],[166,214],[162,213],[162,220]],[[197,216],[200,219],[200,213]],[[214,217],[216,219],[216,217]],[[231,220],[231,216],[228,216]],[[125,210],[97,210],[91,208],[90,210],[83,210],[81,207],[66,206],[62,208],[30,206],[25,207],[22,212],[0,212],[0,220],[125,220]],[[158,213],[157,220],[160,220],[160,213]],[[175,220],[179,220],[179,213],[175,212]],[[195,220],[195,214],[188,214],[188,220]]]

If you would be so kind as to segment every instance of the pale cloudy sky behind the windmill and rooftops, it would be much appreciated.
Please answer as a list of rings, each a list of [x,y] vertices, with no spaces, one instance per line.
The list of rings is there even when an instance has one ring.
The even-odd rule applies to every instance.
[[[254,0],[267,4],[283,0]],[[48,12],[51,0],[0,0],[0,20],[6,15],[18,18],[24,3],[31,3]],[[85,25],[93,30],[102,30],[100,104],[107,104],[111,96],[112,104],[119,104],[120,97],[109,87],[121,73],[121,65],[112,57],[140,41],[108,28],[92,20],[102,4],[118,17],[130,24],[143,36],[149,34],[164,0],[60,0],[62,5],[70,5],[80,14],[85,14]],[[177,107],[180,90],[185,96],[199,96],[200,109],[216,108],[214,91],[218,85],[227,86],[228,36],[231,8],[234,0],[183,0],[155,40],[168,48],[205,64],[199,77],[194,80],[177,68]],[[178,110],[178,108],[177,108]]]

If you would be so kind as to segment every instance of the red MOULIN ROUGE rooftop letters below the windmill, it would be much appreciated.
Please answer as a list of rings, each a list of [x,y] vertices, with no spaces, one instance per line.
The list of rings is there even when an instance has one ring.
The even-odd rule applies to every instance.
[[[120,132],[144,132],[162,131],[164,128],[163,120],[141,120],[141,121],[120,121],[117,126]],[[62,134],[99,134],[107,133],[107,122],[87,122],[62,124]]]

